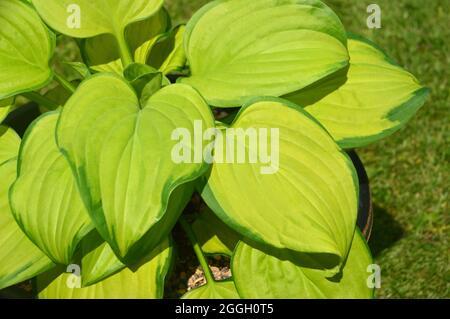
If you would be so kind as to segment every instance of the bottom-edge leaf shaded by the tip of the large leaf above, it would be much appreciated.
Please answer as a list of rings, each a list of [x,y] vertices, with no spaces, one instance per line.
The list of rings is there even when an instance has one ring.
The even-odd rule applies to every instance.
[[[299,254],[240,242],[232,258],[237,290],[248,299],[372,298],[367,285],[373,264],[365,239],[355,231],[342,272],[327,278],[333,256]]]

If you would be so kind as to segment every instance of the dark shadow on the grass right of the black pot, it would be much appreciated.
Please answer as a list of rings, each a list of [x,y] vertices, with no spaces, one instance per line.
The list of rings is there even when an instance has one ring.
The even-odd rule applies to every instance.
[[[374,204],[373,213],[374,222],[369,247],[372,255],[377,257],[385,249],[399,241],[405,232],[400,224],[384,208]]]

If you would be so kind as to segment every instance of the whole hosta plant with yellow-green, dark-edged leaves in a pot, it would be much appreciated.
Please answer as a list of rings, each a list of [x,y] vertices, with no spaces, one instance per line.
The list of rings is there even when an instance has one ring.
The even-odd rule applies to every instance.
[[[373,296],[347,152],[428,91],[324,3],[215,0],[174,26],[163,0],[0,0],[0,23],[0,289],[162,298],[179,223],[207,281],[183,298]],[[82,60],[58,60],[71,38]],[[22,137],[18,96],[42,113]]]

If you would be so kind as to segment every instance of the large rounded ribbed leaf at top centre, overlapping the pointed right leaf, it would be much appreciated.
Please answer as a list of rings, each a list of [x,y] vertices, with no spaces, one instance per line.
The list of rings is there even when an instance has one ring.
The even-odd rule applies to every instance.
[[[317,0],[213,1],[184,46],[192,76],[181,81],[218,107],[291,93],[348,64],[344,27]]]

